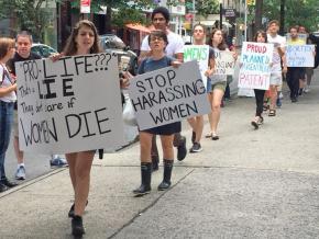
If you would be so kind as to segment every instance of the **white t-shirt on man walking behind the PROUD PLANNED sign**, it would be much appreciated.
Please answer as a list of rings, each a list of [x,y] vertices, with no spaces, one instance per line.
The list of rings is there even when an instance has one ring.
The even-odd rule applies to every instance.
[[[282,72],[282,57],[278,53],[278,48],[285,48],[286,38],[280,35],[273,37],[272,35],[267,34],[267,42],[274,44],[272,72]]]

